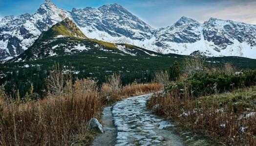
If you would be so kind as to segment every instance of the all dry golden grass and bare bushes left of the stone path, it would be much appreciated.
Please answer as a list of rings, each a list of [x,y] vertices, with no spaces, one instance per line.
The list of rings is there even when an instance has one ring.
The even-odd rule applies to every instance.
[[[15,101],[0,88],[0,146],[88,145],[95,131],[88,131],[86,122],[99,119],[103,106],[161,87],[151,83],[122,88],[120,76],[113,75],[99,92],[95,80],[72,82],[70,76],[60,75],[59,68],[55,71],[47,81],[51,90],[42,100]]]

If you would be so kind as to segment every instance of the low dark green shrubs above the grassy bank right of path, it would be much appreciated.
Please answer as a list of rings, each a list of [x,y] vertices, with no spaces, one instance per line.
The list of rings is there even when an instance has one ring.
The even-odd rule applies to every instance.
[[[240,75],[195,73],[186,81],[168,84],[165,86],[165,91],[172,92],[175,87],[175,91],[179,91],[181,95],[186,89],[190,97],[199,97],[216,92],[232,91],[236,88],[249,87],[252,85],[256,85],[256,70],[246,70]]]

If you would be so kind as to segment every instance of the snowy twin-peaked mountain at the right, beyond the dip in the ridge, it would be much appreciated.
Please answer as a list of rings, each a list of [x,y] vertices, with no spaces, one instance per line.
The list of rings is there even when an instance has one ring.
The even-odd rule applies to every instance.
[[[256,58],[256,25],[216,18],[201,24],[182,17],[158,29],[144,46],[161,53]]]

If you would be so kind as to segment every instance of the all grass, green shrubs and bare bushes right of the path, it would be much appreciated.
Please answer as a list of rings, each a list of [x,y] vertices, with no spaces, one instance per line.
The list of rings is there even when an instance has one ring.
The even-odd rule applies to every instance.
[[[236,72],[229,63],[209,69],[196,58],[192,62],[185,61],[184,74],[166,84],[166,94],[150,98],[149,109],[174,122],[178,131],[206,136],[214,145],[254,146],[256,70]]]

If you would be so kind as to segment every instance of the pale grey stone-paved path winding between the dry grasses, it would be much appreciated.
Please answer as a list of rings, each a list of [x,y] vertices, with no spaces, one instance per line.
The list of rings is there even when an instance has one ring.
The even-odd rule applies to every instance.
[[[113,106],[115,146],[182,146],[179,136],[165,129],[173,125],[146,110],[150,95],[130,97]]]

